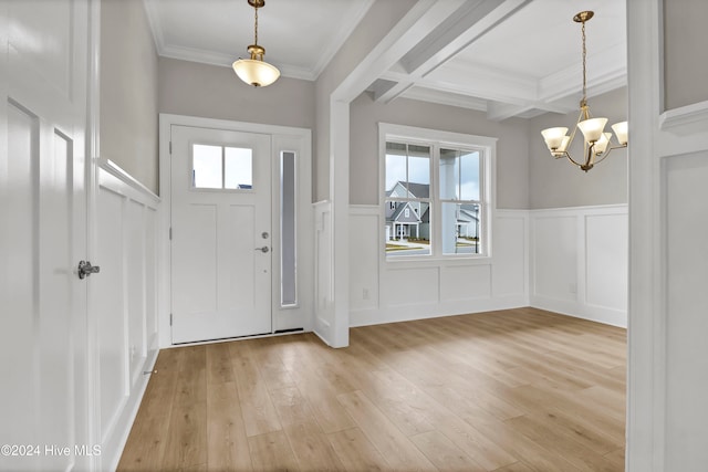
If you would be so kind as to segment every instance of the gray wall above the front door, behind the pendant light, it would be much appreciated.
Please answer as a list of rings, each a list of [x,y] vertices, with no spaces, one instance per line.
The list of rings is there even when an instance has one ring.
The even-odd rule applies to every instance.
[[[231,67],[159,59],[159,112],[314,128],[314,82],[280,77],[247,85]]]

